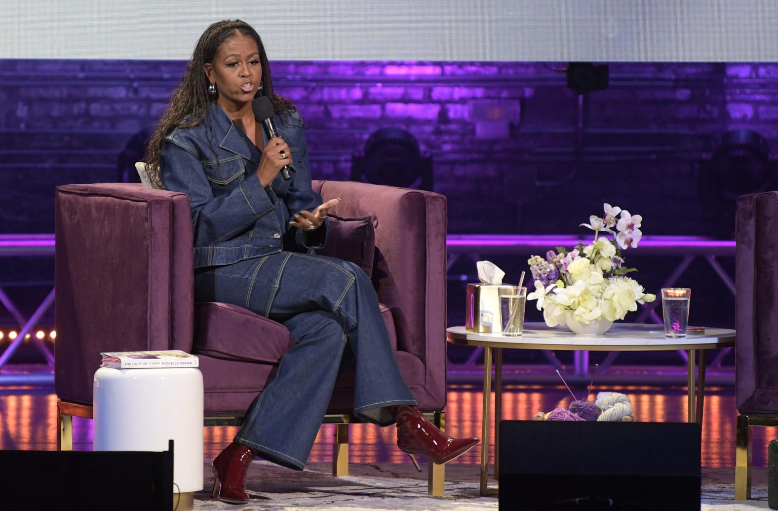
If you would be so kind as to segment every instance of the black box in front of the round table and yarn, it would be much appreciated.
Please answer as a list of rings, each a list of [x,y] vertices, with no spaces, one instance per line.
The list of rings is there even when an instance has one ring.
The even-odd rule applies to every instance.
[[[699,424],[502,421],[500,511],[699,511]]]

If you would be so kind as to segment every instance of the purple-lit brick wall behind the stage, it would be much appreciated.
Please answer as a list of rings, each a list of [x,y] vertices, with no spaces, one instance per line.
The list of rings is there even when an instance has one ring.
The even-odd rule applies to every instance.
[[[277,61],[273,77],[306,120],[314,178],[349,179],[377,128],[411,131],[452,233],[579,233],[604,201],[642,214],[646,234],[720,233],[699,161],[735,128],[775,151],[778,64],[611,64],[608,89],[583,98],[565,65]],[[163,112],[184,66],[0,60],[0,231],[51,232],[60,183],[121,180],[118,155]],[[505,121],[489,123],[494,112]],[[28,267],[9,259],[4,273]]]

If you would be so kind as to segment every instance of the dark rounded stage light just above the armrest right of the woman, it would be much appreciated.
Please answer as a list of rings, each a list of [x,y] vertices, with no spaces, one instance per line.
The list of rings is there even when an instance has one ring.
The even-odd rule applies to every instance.
[[[407,130],[381,128],[368,137],[363,153],[352,156],[351,180],[432,191],[432,158]]]

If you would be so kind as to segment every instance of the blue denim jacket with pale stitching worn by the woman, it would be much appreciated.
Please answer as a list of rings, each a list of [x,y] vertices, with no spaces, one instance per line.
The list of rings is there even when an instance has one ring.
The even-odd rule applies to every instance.
[[[274,122],[289,144],[297,172],[287,181],[279,172],[267,188],[256,172],[261,151],[216,103],[203,123],[176,128],[166,137],[159,172],[166,189],[189,196],[195,268],[324,246],[326,220],[311,233],[289,225],[293,214],[321,204],[321,196],[311,189],[300,114],[286,110]]]

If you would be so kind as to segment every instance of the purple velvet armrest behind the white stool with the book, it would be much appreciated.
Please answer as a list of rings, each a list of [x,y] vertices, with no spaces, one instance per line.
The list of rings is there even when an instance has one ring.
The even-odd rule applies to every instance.
[[[58,186],[54,386],[92,401],[101,351],[191,349],[193,255],[183,193],[130,183]]]

